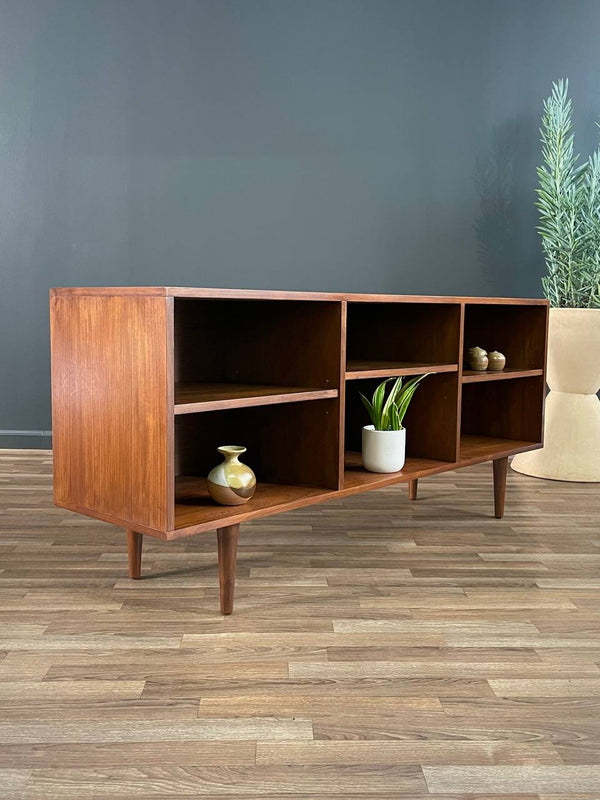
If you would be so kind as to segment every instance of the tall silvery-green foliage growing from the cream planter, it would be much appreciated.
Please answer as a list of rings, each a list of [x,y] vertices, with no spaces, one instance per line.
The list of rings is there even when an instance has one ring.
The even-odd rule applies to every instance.
[[[559,308],[600,307],[600,149],[575,155],[568,80],[552,85],[544,102],[537,190],[538,230],[548,274],[544,294]],[[598,124],[598,123],[597,123]]]

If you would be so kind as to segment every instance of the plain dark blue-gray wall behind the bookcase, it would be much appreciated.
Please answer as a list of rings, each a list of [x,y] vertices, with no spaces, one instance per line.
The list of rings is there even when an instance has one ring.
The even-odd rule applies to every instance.
[[[50,286],[538,295],[540,103],[593,127],[599,11],[0,0],[0,429],[50,427]]]

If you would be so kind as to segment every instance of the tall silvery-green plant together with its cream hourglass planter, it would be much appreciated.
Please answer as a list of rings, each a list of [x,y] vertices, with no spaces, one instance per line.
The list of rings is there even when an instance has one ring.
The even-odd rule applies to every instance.
[[[550,300],[544,447],[513,469],[565,481],[600,481],[600,148],[579,163],[566,80],[544,103],[538,169],[539,232]]]

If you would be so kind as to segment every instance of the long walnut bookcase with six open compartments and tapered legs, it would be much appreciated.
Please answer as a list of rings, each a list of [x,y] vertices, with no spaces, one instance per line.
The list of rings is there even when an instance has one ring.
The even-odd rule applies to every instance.
[[[240,523],[541,446],[544,300],[169,287],[50,292],[54,499],[142,536],[218,532],[221,607],[233,602]],[[472,372],[473,345],[503,372]],[[433,372],[407,413],[401,472],[363,469],[358,392]],[[218,506],[205,476],[243,444],[258,487]]]

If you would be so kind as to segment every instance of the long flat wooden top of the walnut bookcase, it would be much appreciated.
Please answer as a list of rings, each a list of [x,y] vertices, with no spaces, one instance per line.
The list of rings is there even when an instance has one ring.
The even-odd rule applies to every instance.
[[[411,294],[360,294],[352,292],[290,292],[263,289],[199,289],[189,286],[78,286],[50,289],[50,297],[60,296],[144,296],[144,297],[198,297],[224,300],[322,300],[353,303],[499,303],[547,306],[548,300],[517,297],[469,297],[411,295]]]

